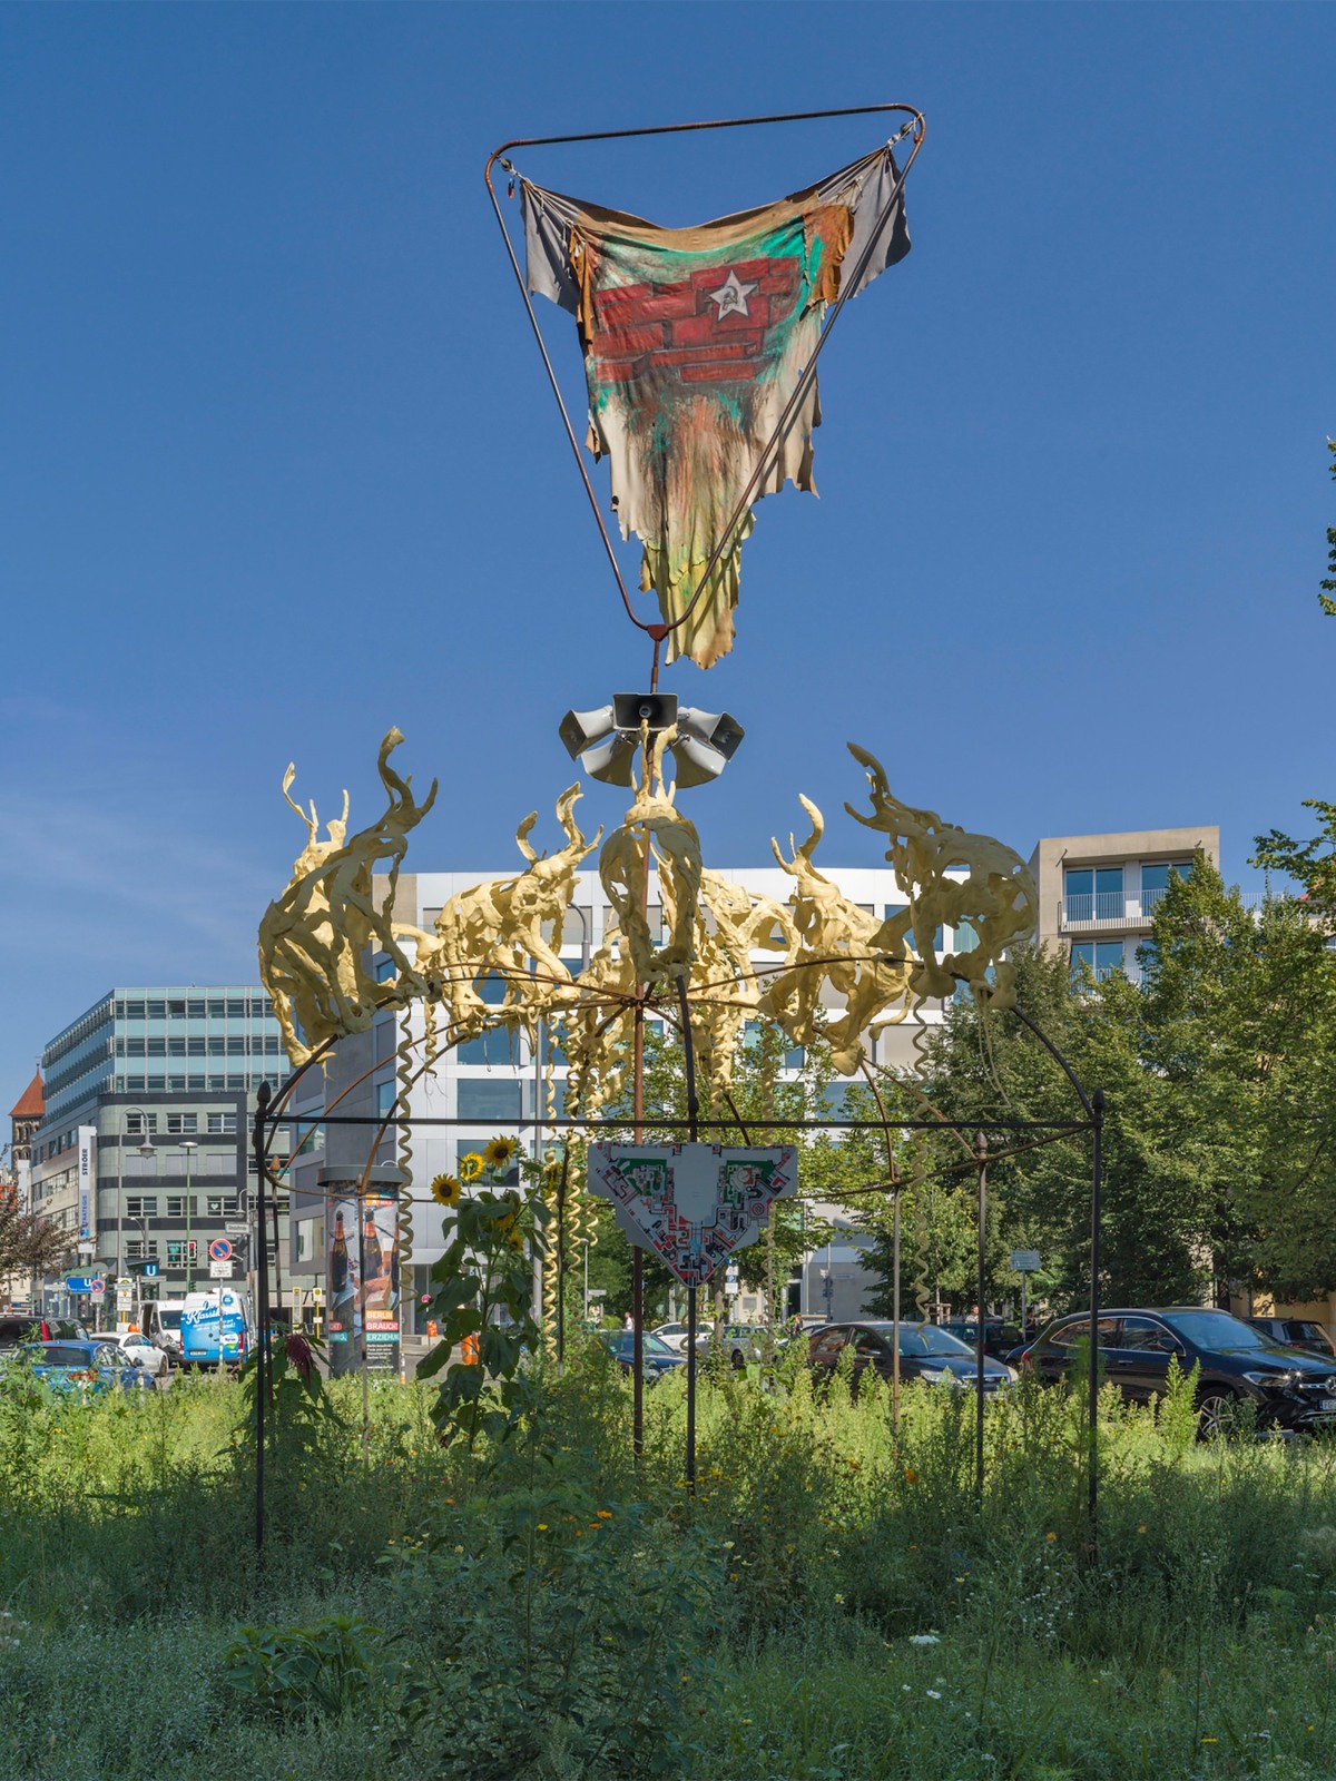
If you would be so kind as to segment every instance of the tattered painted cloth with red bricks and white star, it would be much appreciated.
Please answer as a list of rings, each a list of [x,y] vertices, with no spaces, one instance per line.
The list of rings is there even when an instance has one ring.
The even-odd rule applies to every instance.
[[[645,545],[641,590],[686,611],[794,394],[841,272],[857,296],[908,253],[889,148],[805,192],[698,228],[656,228],[520,180],[529,289],[579,321],[588,445],[609,458],[622,536]],[[864,264],[866,255],[866,264]],[[811,381],[754,499],[786,481],[816,492]],[[709,668],[732,648],[741,516],[668,661]]]

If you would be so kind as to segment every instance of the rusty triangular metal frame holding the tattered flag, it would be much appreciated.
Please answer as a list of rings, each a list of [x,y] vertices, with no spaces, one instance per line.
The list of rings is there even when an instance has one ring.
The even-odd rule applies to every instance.
[[[552,367],[552,360],[549,356],[547,344],[543,342],[543,331],[542,331],[542,328],[538,324],[538,315],[534,313],[534,306],[533,306],[533,301],[529,297],[529,287],[525,283],[524,272],[520,271],[520,262],[518,262],[518,256],[515,253],[515,246],[513,246],[513,242],[509,239],[509,230],[506,228],[506,217],[502,216],[501,203],[497,199],[497,192],[495,192],[495,187],[492,183],[492,169],[495,166],[504,167],[506,173],[511,175],[511,191],[513,191],[513,180],[515,180],[517,175],[515,175],[515,167],[511,166],[511,162],[506,160],[506,155],[513,148],[550,148],[550,146],[561,144],[561,142],[616,142],[616,141],[625,141],[627,137],[638,137],[638,135],[682,135],[686,132],[695,132],[695,130],[743,130],[743,128],[754,128],[754,126],[764,126],[764,125],[777,125],[777,123],[811,123],[811,121],[825,119],[825,118],[869,118],[869,116],[887,114],[887,112],[894,112],[894,114],[905,118],[905,123],[889,139],[887,146],[894,146],[896,142],[903,141],[905,137],[910,139],[912,146],[910,146],[908,157],[905,160],[905,166],[900,169],[900,176],[896,178],[896,183],[894,183],[894,187],[891,191],[891,196],[887,198],[885,205],[882,207],[882,212],[876,217],[876,223],[875,223],[875,226],[873,226],[873,230],[871,230],[871,233],[868,237],[868,246],[864,248],[864,251],[862,251],[862,255],[859,258],[859,264],[853,267],[853,274],[850,278],[841,280],[839,294],[835,296],[834,303],[828,306],[828,312],[827,312],[827,315],[825,315],[825,319],[821,322],[821,331],[818,335],[816,346],[812,347],[812,354],[807,360],[807,365],[803,367],[803,370],[802,370],[802,374],[798,378],[798,383],[793,388],[793,394],[791,394],[789,401],[784,404],[784,410],[782,410],[778,420],[775,422],[773,433],[766,440],[766,445],[764,445],[764,449],[761,452],[761,458],[757,459],[755,470],[752,472],[752,476],[750,476],[750,479],[746,483],[746,488],[737,497],[737,502],[736,502],[736,506],[734,506],[734,509],[732,509],[732,513],[729,516],[729,522],[723,527],[723,531],[720,533],[720,541],[716,543],[716,547],[714,547],[709,561],[705,563],[705,568],[702,570],[700,581],[697,582],[695,591],[691,593],[691,598],[688,600],[688,604],[684,606],[684,609],[677,614],[677,618],[673,618],[670,623],[666,623],[663,620],[647,622],[643,618],[638,618],[636,613],[634,613],[634,609],[632,609],[632,606],[631,606],[631,595],[627,593],[627,584],[622,579],[622,568],[620,568],[620,565],[616,561],[616,550],[613,547],[613,540],[607,534],[607,525],[604,524],[602,509],[599,506],[599,497],[593,492],[593,483],[590,481],[590,472],[588,472],[588,467],[584,463],[584,456],[581,454],[579,440],[575,438],[575,427],[572,426],[570,413],[566,411],[566,403],[565,403],[565,399],[561,395],[561,385],[558,381],[558,374],[556,374],[556,370]],[[775,114],[766,116],[766,118],[713,118],[713,119],[704,119],[704,121],[698,121],[698,123],[647,125],[647,126],[641,126],[641,128],[636,128],[636,130],[584,130],[584,132],[577,132],[577,134],[572,134],[572,135],[522,135],[522,137],[513,137],[508,142],[502,142],[499,148],[493,148],[492,153],[488,155],[486,167],[483,169],[483,180],[486,183],[486,194],[492,199],[492,210],[495,212],[495,217],[497,217],[497,226],[501,230],[501,239],[506,244],[506,258],[509,260],[511,272],[515,274],[515,283],[518,285],[520,297],[524,301],[524,310],[525,310],[525,313],[529,317],[529,326],[533,328],[533,337],[534,337],[534,342],[538,344],[538,353],[540,353],[540,356],[543,360],[543,369],[547,372],[547,381],[549,381],[549,385],[552,388],[552,395],[556,397],[556,404],[558,404],[558,410],[561,413],[561,426],[563,426],[565,435],[566,435],[566,443],[570,445],[572,456],[575,459],[575,468],[579,472],[581,483],[584,484],[584,495],[586,495],[586,499],[590,502],[590,511],[593,513],[595,525],[599,527],[599,536],[602,538],[604,552],[607,554],[607,563],[609,563],[609,566],[613,570],[613,579],[616,581],[616,591],[622,597],[622,606],[625,607],[625,614],[631,620],[631,623],[636,625],[638,630],[643,630],[650,638],[650,641],[654,643],[654,663],[652,663],[652,668],[650,668],[650,691],[657,691],[657,686],[659,686],[659,650],[663,647],[663,639],[668,638],[673,630],[677,630],[680,625],[684,625],[688,622],[688,618],[695,611],[695,607],[697,607],[702,593],[709,586],[711,575],[714,573],[714,570],[721,563],[725,552],[732,547],[732,541],[736,538],[737,527],[743,524],[743,518],[748,513],[752,500],[755,499],[755,492],[761,486],[761,481],[766,476],[766,470],[770,468],[770,463],[771,463],[771,459],[775,456],[775,451],[778,449],[780,440],[784,438],[784,435],[787,433],[789,426],[793,424],[793,417],[798,413],[798,408],[802,406],[803,399],[807,397],[807,392],[812,386],[812,379],[816,378],[816,362],[821,356],[821,349],[827,344],[827,340],[830,338],[830,331],[835,326],[835,322],[839,321],[839,315],[841,315],[841,312],[844,308],[844,303],[848,301],[850,292],[857,289],[859,280],[862,278],[866,267],[869,265],[871,256],[873,256],[873,249],[876,248],[876,242],[880,239],[882,228],[891,219],[891,216],[894,214],[896,205],[900,203],[901,192],[905,191],[905,180],[908,178],[908,169],[914,166],[914,160],[917,159],[919,148],[923,146],[925,132],[926,132],[926,121],[923,118],[923,112],[917,110],[914,105],[907,105],[901,100],[894,100],[894,102],[885,103],[885,105],[843,105],[843,107],[835,107],[835,109],[828,109],[828,110],[775,112]]]

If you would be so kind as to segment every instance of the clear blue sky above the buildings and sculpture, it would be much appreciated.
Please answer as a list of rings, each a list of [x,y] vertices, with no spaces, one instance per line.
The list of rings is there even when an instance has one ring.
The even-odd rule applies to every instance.
[[[645,680],[483,191],[513,135],[928,118],[914,251],[823,358],[821,500],[762,502],[736,654],[666,677],[748,730],[707,857],[805,791],[875,860],[851,737],[1022,853],[1215,821],[1247,880],[1336,796],[1332,66],[1320,5],[0,9],[4,1092],[116,981],[253,976],[290,759],[356,823],[399,723],[442,780],[410,862],[504,869],[534,805],[556,841],[561,712]],[[689,223],[875,141],[518,160]]]

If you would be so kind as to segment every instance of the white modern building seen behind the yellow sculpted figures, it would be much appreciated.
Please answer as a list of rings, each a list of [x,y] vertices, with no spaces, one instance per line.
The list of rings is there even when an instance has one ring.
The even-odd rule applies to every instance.
[[[488,876],[502,874],[404,873],[399,878],[394,919],[431,930],[449,898]],[[777,901],[786,901],[793,892],[793,880],[777,866],[725,873],[725,876]],[[832,876],[846,896],[880,919],[907,901],[889,867],[832,869]],[[378,880],[378,901],[383,901],[385,896],[387,882]],[[650,921],[654,923],[657,917],[657,885],[652,878]],[[561,937],[561,958],[572,972],[590,962],[593,951],[602,944],[609,923],[611,912],[599,874],[595,871],[577,873],[570,919]],[[941,935],[939,944],[944,947],[951,949],[955,935],[949,930]],[[388,960],[385,965],[388,969]],[[372,967],[376,967],[376,960],[372,960]],[[917,1021],[887,1028],[876,1042],[876,1060],[892,1067],[908,1067],[914,1060],[916,1037],[941,1021],[942,1004],[935,1003],[925,1008]],[[420,1037],[420,1021],[411,1017],[406,1024],[403,1015],[381,1015],[369,1033],[347,1038],[337,1047],[326,1076],[310,1070],[294,1097],[292,1113],[303,1124],[292,1127],[292,1142],[299,1145],[299,1154],[292,1163],[292,1252],[287,1257],[287,1277],[292,1286],[321,1288],[326,1268],[326,1197],[331,1191],[337,1193],[338,1188],[351,1186],[369,1161],[374,1122],[394,1106],[395,1054],[404,1033]],[[565,1094],[565,1063],[547,1037],[542,1040],[542,1051],[534,1054],[524,1040],[509,1033],[485,1033],[481,1038],[468,1040],[444,1054],[431,1072],[410,1090],[408,1163],[411,1184],[408,1193],[413,1208],[413,1229],[410,1236],[411,1261],[403,1279],[404,1302],[420,1298],[428,1291],[431,1263],[442,1252],[442,1222],[428,1193],[433,1175],[456,1172],[465,1152],[481,1149],[499,1129],[515,1131],[515,1122],[520,1122],[518,1136],[527,1151],[534,1152],[545,1142],[550,1143],[556,1133],[543,1124],[547,1111],[543,1085],[549,1069],[554,1078],[559,1115]],[[844,1085],[835,1083],[830,1090],[834,1117],[839,1115],[843,1088]],[[338,1126],[331,1122],[326,1126],[322,1115],[335,1099],[340,1117],[362,1118],[367,1124]],[[452,1124],[431,1126],[426,1124],[429,1118],[444,1118]],[[379,1183],[392,1184],[397,1179],[394,1134],[378,1145],[371,1163]],[[869,1277],[857,1265],[857,1245],[851,1240],[841,1247],[837,1261],[841,1309],[857,1314],[862,1282]],[[809,1305],[821,1309],[825,1302],[821,1295],[825,1279],[830,1275],[821,1277],[821,1266],[828,1268],[825,1250],[819,1257],[809,1259],[811,1279],[802,1289],[805,1309]],[[796,1309],[796,1282],[793,1293]],[[737,1311],[746,1313],[746,1304],[739,1300]]]

